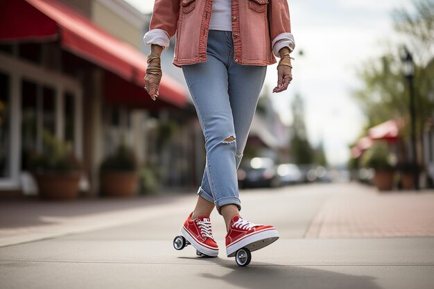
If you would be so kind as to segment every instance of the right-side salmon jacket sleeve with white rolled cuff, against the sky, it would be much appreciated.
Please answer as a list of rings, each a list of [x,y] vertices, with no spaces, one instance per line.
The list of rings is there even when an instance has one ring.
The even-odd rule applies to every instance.
[[[282,47],[288,47],[293,51],[295,42],[291,33],[287,0],[268,1],[268,25],[273,54],[279,58],[279,50]]]

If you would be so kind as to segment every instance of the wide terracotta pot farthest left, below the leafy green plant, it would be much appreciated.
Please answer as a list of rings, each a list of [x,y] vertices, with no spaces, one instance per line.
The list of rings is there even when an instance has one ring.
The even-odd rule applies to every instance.
[[[78,196],[81,172],[37,173],[34,176],[42,199],[71,200]]]

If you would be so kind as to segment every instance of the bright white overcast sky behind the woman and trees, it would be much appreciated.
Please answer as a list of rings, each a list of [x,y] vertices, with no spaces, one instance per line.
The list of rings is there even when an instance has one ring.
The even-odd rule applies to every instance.
[[[141,12],[153,10],[154,0],[125,1]],[[293,81],[286,91],[271,94],[277,84],[277,64],[269,65],[263,89],[287,124],[292,121],[290,103],[300,94],[309,141],[313,146],[323,143],[330,164],[345,163],[350,157],[348,144],[365,125],[351,96],[362,85],[356,69],[395,41],[391,12],[411,7],[411,1],[288,0],[288,6],[295,39]]]

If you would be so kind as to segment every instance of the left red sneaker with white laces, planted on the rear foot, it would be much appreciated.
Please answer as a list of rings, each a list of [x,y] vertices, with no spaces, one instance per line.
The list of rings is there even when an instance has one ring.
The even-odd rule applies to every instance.
[[[212,236],[209,216],[198,216],[196,219],[191,220],[191,215],[193,215],[193,212],[181,227],[182,236],[202,254],[217,256],[218,245]]]

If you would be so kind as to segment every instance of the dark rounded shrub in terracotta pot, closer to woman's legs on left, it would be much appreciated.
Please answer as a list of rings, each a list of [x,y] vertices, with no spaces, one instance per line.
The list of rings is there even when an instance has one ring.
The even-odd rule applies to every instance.
[[[137,194],[138,184],[134,153],[122,143],[101,164],[101,193],[105,196],[129,197]]]

